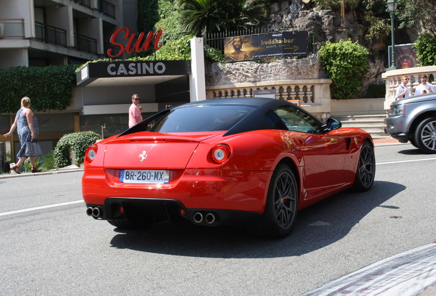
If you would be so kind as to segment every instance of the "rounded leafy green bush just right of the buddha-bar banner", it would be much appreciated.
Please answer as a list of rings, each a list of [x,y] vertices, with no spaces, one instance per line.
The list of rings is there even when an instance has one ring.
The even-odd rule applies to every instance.
[[[330,41],[318,51],[322,66],[332,79],[333,99],[350,99],[357,95],[363,85],[363,76],[368,68],[369,51],[351,40]]]

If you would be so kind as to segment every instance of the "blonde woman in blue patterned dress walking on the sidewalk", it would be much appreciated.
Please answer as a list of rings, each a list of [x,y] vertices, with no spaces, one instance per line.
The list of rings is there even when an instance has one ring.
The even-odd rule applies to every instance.
[[[16,132],[19,134],[21,149],[16,154],[19,161],[12,169],[19,174],[21,165],[29,158],[30,164],[32,164],[32,173],[40,172],[38,167],[36,167],[35,158],[26,155],[27,142],[35,140],[38,137],[38,120],[36,116],[34,116],[34,112],[30,110],[30,99],[28,97],[21,99],[21,109],[16,112],[15,121],[12,123],[8,134],[4,134],[4,136],[12,136],[15,128]]]

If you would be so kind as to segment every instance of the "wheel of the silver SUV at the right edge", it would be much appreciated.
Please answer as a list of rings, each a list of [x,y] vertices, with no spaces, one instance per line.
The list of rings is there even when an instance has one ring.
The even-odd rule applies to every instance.
[[[414,140],[424,153],[436,153],[436,117],[424,119],[417,125]]]

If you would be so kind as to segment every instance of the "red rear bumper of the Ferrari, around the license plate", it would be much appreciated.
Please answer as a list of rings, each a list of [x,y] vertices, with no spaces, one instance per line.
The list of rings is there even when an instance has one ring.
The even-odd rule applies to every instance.
[[[263,212],[271,171],[186,169],[167,184],[124,184],[116,170],[85,169],[82,195],[86,204],[104,205],[108,198],[176,201],[184,209]]]

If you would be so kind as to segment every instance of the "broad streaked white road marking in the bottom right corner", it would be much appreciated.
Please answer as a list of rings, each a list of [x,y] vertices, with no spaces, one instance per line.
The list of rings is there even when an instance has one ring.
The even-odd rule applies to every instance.
[[[354,271],[304,296],[416,295],[435,283],[436,243],[430,243]]]

